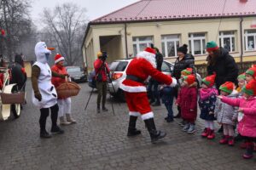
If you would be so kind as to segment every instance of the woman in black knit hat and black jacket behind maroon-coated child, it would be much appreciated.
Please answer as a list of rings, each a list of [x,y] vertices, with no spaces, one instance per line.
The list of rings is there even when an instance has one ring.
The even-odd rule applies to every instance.
[[[187,69],[187,68],[195,68],[195,58],[192,54],[188,54],[188,45],[183,44],[182,47],[177,48],[177,59],[174,63],[173,73],[172,77],[175,77],[177,80],[181,77],[181,71]],[[195,70],[193,71],[195,72]],[[177,92],[178,92],[178,86],[174,90],[174,95],[177,98]],[[180,108],[177,106],[177,116],[174,116],[174,118],[178,118],[181,116]]]

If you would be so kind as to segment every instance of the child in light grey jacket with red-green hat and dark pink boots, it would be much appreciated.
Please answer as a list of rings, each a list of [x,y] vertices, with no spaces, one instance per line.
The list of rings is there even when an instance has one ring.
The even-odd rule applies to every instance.
[[[220,94],[230,99],[237,97],[237,91],[233,82],[225,82],[219,87]],[[232,105],[225,104],[217,99],[215,103],[214,115],[217,118],[218,124],[223,126],[223,138],[219,140],[219,144],[229,144],[233,146],[234,140],[234,127],[236,125],[237,112],[236,108]]]

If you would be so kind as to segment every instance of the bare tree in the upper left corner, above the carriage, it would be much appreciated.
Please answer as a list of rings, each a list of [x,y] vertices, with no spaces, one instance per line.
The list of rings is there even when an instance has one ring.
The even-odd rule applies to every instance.
[[[1,38],[1,45],[9,62],[12,62],[21,40],[30,35],[32,20],[29,8],[29,0],[0,0],[0,27],[6,31],[6,36]]]

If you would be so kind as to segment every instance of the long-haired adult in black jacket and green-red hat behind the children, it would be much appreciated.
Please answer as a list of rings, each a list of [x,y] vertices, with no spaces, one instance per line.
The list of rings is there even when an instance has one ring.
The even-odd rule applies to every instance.
[[[235,59],[225,48],[218,48],[216,42],[207,42],[207,74],[216,73],[215,84],[218,89],[224,82],[236,82],[238,67]]]

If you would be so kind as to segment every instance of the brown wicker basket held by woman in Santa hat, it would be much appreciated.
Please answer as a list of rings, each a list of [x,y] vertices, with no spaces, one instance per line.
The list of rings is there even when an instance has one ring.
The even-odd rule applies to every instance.
[[[75,82],[64,82],[56,88],[58,98],[69,98],[79,94],[80,87]]]

